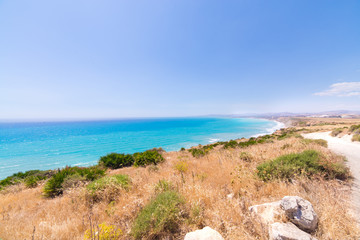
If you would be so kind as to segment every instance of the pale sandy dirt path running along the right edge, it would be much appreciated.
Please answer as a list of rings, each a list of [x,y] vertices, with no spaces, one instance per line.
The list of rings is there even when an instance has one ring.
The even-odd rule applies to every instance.
[[[324,139],[328,142],[330,150],[337,154],[344,155],[347,158],[353,175],[353,204],[355,208],[355,216],[360,223],[360,142],[352,142],[350,135],[341,138],[330,136],[330,132],[315,132],[304,134],[304,137],[311,139]]]

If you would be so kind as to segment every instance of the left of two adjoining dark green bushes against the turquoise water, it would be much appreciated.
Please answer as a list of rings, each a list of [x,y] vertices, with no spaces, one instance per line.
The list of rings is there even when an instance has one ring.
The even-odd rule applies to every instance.
[[[111,169],[129,167],[134,164],[131,154],[110,153],[99,160],[99,164]]]

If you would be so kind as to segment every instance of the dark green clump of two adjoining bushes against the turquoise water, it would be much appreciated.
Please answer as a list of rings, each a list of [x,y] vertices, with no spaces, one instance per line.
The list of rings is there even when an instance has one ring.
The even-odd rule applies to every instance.
[[[129,166],[146,166],[149,164],[158,164],[164,161],[161,156],[161,148],[154,148],[145,152],[134,154],[110,153],[99,160],[99,164],[111,169],[129,167]]]

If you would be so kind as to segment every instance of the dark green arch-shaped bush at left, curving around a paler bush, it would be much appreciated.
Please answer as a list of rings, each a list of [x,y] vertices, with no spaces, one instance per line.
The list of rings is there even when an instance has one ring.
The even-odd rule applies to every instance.
[[[65,179],[75,174],[84,177],[86,181],[94,181],[95,179],[104,176],[105,170],[98,166],[89,168],[65,167],[59,170],[46,182],[43,190],[44,195],[46,197],[56,197],[62,194],[65,189],[63,186]]]

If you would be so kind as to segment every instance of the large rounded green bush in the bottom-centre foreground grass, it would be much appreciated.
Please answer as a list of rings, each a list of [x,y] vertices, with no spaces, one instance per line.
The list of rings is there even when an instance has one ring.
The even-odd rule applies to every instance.
[[[157,239],[179,231],[184,198],[175,191],[159,193],[136,217],[131,234],[135,239]]]

